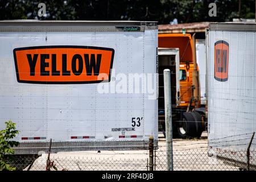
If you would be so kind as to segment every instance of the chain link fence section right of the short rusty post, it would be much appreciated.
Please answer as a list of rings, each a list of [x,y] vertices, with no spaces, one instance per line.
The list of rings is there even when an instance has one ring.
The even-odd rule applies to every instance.
[[[255,170],[256,151],[250,152],[250,169]],[[165,154],[165,155],[164,155]],[[173,150],[175,171],[238,171],[247,168],[246,151],[217,152],[207,147]],[[155,150],[155,170],[168,170],[166,146]]]

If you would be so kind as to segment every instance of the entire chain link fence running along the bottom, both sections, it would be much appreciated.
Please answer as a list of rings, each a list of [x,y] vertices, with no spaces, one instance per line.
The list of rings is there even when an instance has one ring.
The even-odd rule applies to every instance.
[[[233,140],[237,143],[237,140]],[[256,170],[256,151],[243,149],[233,150],[234,144],[209,147],[208,139],[174,139],[172,151],[168,151],[166,140],[159,138],[158,144],[148,150],[119,151],[76,151],[57,154],[19,155],[11,162],[18,170],[42,171],[165,171],[170,168],[168,157],[172,154],[172,166],[175,171],[224,171]],[[217,143],[217,142],[216,142]],[[224,146],[224,147],[219,147]],[[249,161],[248,161],[249,159]]]

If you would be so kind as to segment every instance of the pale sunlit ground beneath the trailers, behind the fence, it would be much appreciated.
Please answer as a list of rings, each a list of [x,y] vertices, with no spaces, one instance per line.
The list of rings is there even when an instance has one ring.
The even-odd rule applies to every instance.
[[[166,141],[159,133],[159,148],[155,151],[155,169],[167,170]],[[175,170],[237,170],[221,160],[208,157],[207,133],[201,139],[174,139]],[[31,170],[46,169],[47,154],[34,162]],[[51,154],[58,170],[147,170],[148,151],[77,151]]]

